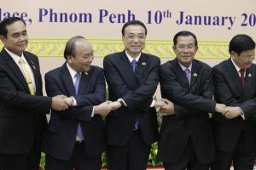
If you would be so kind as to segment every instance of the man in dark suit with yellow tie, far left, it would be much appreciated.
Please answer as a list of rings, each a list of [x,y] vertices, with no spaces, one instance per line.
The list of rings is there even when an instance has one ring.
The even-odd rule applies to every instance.
[[[67,109],[64,96],[43,97],[38,57],[27,47],[26,23],[0,23],[0,169],[38,170],[46,113]],[[63,99],[62,99],[63,98]]]

